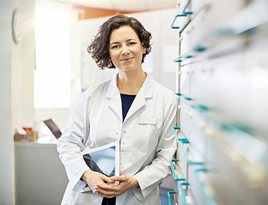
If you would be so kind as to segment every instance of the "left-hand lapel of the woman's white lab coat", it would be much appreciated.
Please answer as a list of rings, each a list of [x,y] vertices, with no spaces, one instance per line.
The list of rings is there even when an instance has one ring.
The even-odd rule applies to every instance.
[[[122,106],[121,106],[121,97],[117,87],[117,76],[111,80],[109,88],[106,92],[106,98],[109,99],[109,107],[118,115],[122,121]]]

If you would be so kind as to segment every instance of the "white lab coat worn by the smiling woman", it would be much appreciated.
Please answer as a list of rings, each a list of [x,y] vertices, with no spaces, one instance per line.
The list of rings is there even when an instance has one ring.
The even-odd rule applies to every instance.
[[[171,174],[176,151],[171,127],[176,125],[175,94],[146,77],[122,123],[118,74],[92,86],[80,99],[59,138],[58,151],[69,183],[61,204],[102,204],[102,197],[79,192],[88,170],[81,151],[120,140],[120,175],[135,177],[140,187],[116,197],[116,205],[160,204],[158,185]]]

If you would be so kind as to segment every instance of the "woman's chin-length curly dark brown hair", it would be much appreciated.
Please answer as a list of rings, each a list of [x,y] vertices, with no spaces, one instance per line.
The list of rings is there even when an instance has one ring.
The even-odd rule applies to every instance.
[[[152,50],[150,44],[152,35],[145,30],[145,27],[137,19],[126,15],[114,15],[99,27],[99,32],[95,36],[95,39],[87,47],[87,51],[97,63],[97,66],[102,70],[105,68],[116,68],[109,55],[109,42],[112,30],[118,29],[123,25],[132,27],[137,33],[140,42],[146,48],[145,54],[142,54],[142,63],[145,60],[145,56]]]

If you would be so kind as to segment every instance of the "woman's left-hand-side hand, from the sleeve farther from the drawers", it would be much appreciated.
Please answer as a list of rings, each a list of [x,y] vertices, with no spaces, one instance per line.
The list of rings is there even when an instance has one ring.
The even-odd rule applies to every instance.
[[[96,187],[99,185],[106,185],[105,182],[113,183],[114,181],[111,180],[106,175],[103,175],[101,173],[92,171],[92,170],[86,170],[85,173],[82,175],[82,179],[87,183],[87,185],[90,187],[93,193],[96,193]]]

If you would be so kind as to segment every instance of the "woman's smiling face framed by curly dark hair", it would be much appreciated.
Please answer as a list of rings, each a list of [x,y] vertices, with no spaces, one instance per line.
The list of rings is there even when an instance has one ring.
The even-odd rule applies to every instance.
[[[121,71],[142,69],[142,54],[145,54],[135,30],[124,25],[111,32],[109,54],[114,66]]]

